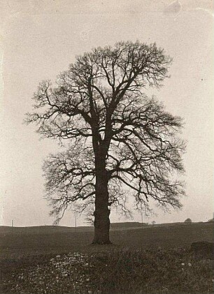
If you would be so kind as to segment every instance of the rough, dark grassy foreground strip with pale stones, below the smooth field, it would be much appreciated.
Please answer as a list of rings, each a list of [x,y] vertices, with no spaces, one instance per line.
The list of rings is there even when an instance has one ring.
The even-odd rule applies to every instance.
[[[184,249],[31,256],[4,266],[1,293],[193,294],[213,287],[211,261]]]

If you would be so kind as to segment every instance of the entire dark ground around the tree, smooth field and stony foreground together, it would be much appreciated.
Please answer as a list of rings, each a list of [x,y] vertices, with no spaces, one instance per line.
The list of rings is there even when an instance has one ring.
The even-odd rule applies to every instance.
[[[1,293],[213,293],[211,256],[190,251],[213,242],[213,223],[110,231],[92,245],[93,228],[1,227]]]

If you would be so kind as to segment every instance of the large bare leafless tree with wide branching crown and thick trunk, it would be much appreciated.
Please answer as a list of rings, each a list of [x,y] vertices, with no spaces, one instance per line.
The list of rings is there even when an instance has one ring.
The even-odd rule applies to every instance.
[[[170,64],[156,44],[120,42],[76,57],[54,87],[43,81],[34,94],[27,123],[67,146],[43,167],[52,214],[59,220],[72,203],[94,205],[94,243],[110,242],[109,207],[124,207],[127,193],[145,208],[150,198],[181,206],[173,171],[183,172],[182,121],[144,94],[161,86]]]

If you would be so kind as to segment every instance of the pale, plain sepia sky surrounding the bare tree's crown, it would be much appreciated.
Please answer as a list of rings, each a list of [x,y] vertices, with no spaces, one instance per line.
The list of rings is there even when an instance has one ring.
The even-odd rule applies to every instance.
[[[213,216],[213,7],[211,0],[4,0],[0,3],[0,224],[52,224],[41,166],[57,149],[23,124],[38,82],[55,80],[77,54],[117,41],[156,42],[173,57],[171,78],[149,89],[184,118],[187,197],[183,210],[144,221],[207,221]],[[131,205],[131,203],[130,203]],[[124,219],[115,212],[111,221]],[[141,221],[138,213],[135,221]],[[68,211],[60,223],[74,225]],[[84,225],[83,217],[78,225]]]

